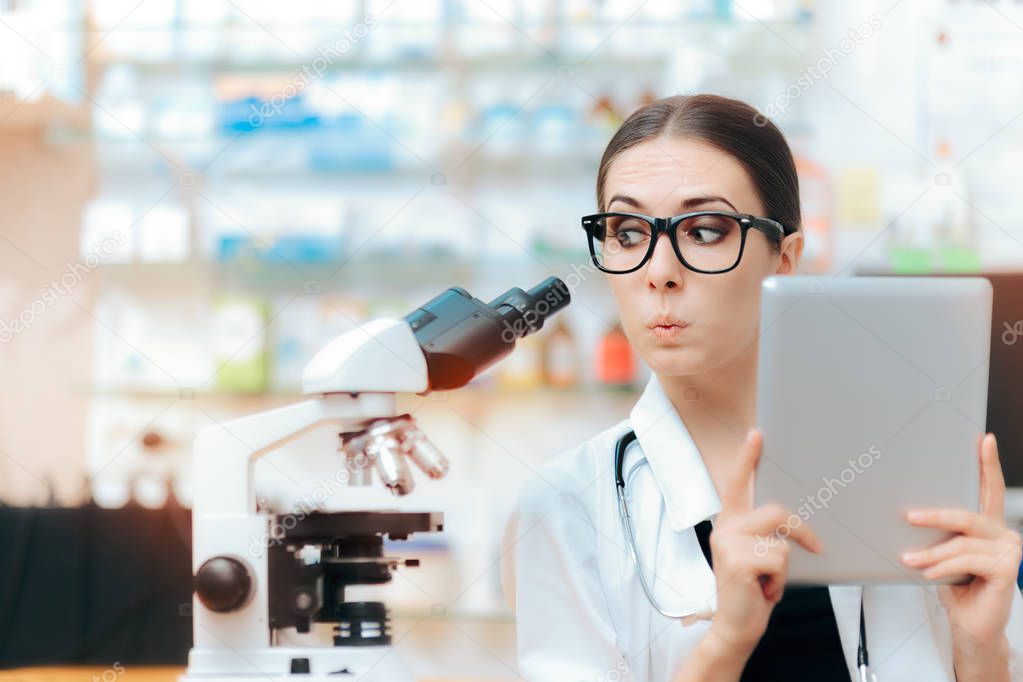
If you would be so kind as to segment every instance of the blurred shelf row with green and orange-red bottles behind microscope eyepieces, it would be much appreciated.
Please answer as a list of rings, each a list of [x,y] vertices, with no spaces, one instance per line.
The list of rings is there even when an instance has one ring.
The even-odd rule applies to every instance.
[[[503,275],[501,280],[501,288],[473,287],[471,292],[488,301],[510,288]],[[175,288],[155,286],[159,291]],[[328,342],[371,319],[400,318],[439,292],[422,284],[393,294],[369,287],[361,293],[315,295],[220,291],[189,300],[110,289],[94,306],[102,322],[95,328],[88,391],[98,399],[136,401],[300,399],[302,372]],[[451,400],[557,402],[634,395],[644,368],[615,326],[614,312],[607,310],[611,302],[579,290],[573,300],[574,306],[521,338],[514,353]]]

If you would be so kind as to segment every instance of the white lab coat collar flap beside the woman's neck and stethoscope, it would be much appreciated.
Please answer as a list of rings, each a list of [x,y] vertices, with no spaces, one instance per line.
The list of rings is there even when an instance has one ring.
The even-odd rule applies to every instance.
[[[721,510],[721,500],[688,429],[656,374],[632,408],[632,428],[650,462],[668,511],[680,533]]]

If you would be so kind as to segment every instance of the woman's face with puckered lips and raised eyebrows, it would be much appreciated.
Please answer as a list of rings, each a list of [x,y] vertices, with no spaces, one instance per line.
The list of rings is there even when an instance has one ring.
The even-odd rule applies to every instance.
[[[626,149],[608,169],[604,190],[604,211],[664,218],[715,210],[764,216],[742,165],[694,139],[662,137]],[[653,371],[699,374],[727,366],[756,340],[760,281],[793,272],[801,252],[799,232],[786,237],[776,254],[767,235],[751,229],[739,266],[708,275],[683,266],[662,235],[643,267],[607,277],[625,334]],[[684,326],[659,325],[662,318]]]

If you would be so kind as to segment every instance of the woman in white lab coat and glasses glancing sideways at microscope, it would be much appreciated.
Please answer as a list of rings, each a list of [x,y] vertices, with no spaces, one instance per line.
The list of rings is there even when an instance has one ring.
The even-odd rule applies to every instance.
[[[654,376],[628,419],[553,459],[520,495],[504,580],[523,676],[848,680],[858,674],[862,606],[881,680],[1023,680],[1020,536],[1004,521],[993,436],[978,447],[981,513],[925,510],[909,519],[961,535],[904,557],[906,565],[928,578],[973,574],[969,585],[786,589],[790,543],[819,551],[819,540],[802,525],[763,542],[789,512],[752,504],[762,446],[753,428],[760,283],[796,272],[803,248],[796,170],[781,132],[737,100],[669,97],[622,125],[596,184],[604,213],[720,213],[678,222],[677,249],[667,229],[652,229],[666,222],[583,219],[625,333]],[[744,230],[725,214],[756,219]],[[729,240],[744,232],[739,248]],[[651,591],[666,611],[712,618],[682,627],[640,585],[612,466],[630,429],[638,446],[626,451],[623,471],[639,560],[648,576],[656,569]],[[640,452],[650,466],[632,468]]]

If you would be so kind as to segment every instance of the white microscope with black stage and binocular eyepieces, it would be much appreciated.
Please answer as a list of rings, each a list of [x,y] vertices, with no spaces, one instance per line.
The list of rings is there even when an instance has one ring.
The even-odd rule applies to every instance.
[[[388,655],[384,603],[346,601],[345,589],[387,583],[399,563],[416,565],[384,556],[384,537],[442,531],[443,514],[258,509],[256,460],[330,427],[349,485],[369,485],[375,469],[394,494],[407,495],[409,460],[433,479],[448,465],[411,416],[397,414],[396,394],[465,385],[569,302],[557,277],[489,304],[449,288],[402,319],[373,320],[328,344],[303,375],[304,393],[315,398],[202,431],[193,463],[194,640],[182,682],[410,679],[400,656]],[[267,542],[254,551],[253,537]],[[278,643],[318,623],[335,624],[333,646]]]

